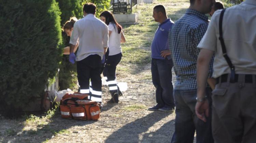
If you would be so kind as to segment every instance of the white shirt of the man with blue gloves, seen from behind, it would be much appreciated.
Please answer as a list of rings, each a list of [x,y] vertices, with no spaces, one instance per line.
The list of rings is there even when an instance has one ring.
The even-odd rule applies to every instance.
[[[76,61],[81,61],[92,54],[98,54],[102,58],[103,47],[108,47],[108,26],[93,14],[88,14],[75,22],[69,43],[76,45],[78,38]]]

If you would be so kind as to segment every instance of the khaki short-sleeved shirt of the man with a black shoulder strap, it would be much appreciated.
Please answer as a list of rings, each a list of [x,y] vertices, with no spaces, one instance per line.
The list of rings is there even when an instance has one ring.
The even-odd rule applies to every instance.
[[[220,14],[221,10],[213,14],[208,29],[197,46],[215,52],[214,78],[230,73],[218,39]],[[256,74],[256,0],[246,0],[225,11],[223,38],[236,74]]]

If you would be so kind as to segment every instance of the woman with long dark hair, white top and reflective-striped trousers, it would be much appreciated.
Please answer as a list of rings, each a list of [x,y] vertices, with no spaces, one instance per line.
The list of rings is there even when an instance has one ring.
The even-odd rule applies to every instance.
[[[121,61],[122,50],[121,43],[125,43],[125,36],[113,14],[109,11],[104,11],[100,14],[100,19],[109,26],[109,56],[106,58],[106,64],[103,69],[103,76],[109,86],[111,100],[108,103],[118,103],[118,96],[122,95],[116,82],[116,66]]]

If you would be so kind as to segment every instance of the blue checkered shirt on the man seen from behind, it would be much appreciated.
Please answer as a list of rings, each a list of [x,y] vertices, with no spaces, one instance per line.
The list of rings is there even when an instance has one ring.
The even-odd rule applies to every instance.
[[[201,41],[208,27],[208,17],[187,9],[183,17],[175,22],[169,32],[169,48],[172,53],[176,74],[175,90],[197,89],[196,66]],[[209,77],[213,73],[213,58],[209,68]]]

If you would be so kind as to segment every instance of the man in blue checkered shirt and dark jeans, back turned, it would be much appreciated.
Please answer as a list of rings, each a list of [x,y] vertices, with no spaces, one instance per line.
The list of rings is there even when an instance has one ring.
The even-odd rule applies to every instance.
[[[211,116],[207,122],[195,114],[197,102],[196,68],[201,41],[208,27],[208,17],[215,0],[190,0],[190,7],[183,17],[175,22],[169,32],[169,47],[172,53],[176,82],[174,83],[175,131],[172,143],[193,143],[196,130],[197,143],[213,143]],[[213,62],[213,58],[212,58]],[[210,66],[209,77],[212,76]],[[206,89],[211,101],[211,89]]]

